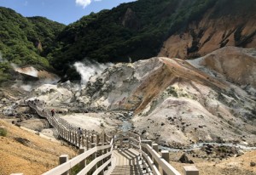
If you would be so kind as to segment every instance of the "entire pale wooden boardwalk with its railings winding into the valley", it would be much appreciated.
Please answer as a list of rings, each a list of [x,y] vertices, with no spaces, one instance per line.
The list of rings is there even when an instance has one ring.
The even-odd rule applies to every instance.
[[[88,172],[93,172],[93,175],[181,175],[169,164],[168,151],[161,150],[159,154],[158,144],[141,140],[136,133],[119,132],[108,136],[106,133],[83,130],[83,134],[79,135],[77,127],[57,116],[50,116],[41,108],[44,103],[38,99],[27,104],[38,116],[49,121],[58,137],[79,148],[79,155],[71,160],[68,160],[68,155],[61,155],[60,165],[44,172],[44,175],[66,175],[76,165],[81,167],[78,175]],[[88,161],[90,163],[86,164]],[[186,175],[199,174],[195,166],[184,167],[184,171]]]

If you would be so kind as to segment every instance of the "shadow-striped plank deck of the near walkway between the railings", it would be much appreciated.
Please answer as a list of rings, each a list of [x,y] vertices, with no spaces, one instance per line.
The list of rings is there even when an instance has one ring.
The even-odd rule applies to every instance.
[[[107,175],[137,175],[143,174],[139,152],[134,149],[113,150],[112,170]]]

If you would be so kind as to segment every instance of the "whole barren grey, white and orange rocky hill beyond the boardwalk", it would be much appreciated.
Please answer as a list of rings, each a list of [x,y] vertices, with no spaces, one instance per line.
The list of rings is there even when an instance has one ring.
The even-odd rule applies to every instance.
[[[87,88],[77,93],[77,101],[81,106],[98,110],[134,110],[135,130],[161,144],[239,140],[253,143],[256,106],[254,93],[250,92],[255,78],[243,78],[254,76],[253,53],[255,49],[223,48],[201,61],[194,60],[201,63],[195,66],[163,57],[114,65],[101,76],[91,78]],[[212,65],[228,73],[211,64],[203,65],[209,57]],[[249,66],[234,64],[236,59]],[[200,65],[207,71],[196,68]],[[214,76],[214,72],[223,76]],[[252,85],[250,91],[245,88],[247,83]]]

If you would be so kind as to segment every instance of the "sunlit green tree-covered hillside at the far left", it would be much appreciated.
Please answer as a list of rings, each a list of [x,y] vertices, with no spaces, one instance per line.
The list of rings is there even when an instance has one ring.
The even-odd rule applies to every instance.
[[[64,27],[42,17],[25,18],[10,8],[0,8],[0,82],[10,78],[10,63],[50,68],[45,56]]]

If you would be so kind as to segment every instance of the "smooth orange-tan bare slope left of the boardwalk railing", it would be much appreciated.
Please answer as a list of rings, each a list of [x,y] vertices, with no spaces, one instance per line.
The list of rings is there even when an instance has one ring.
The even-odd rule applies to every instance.
[[[41,138],[3,120],[0,120],[0,126],[8,131],[6,137],[0,136],[1,175],[14,172],[23,172],[26,175],[42,174],[58,165],[60,155],[76,155],[67,146]]]

